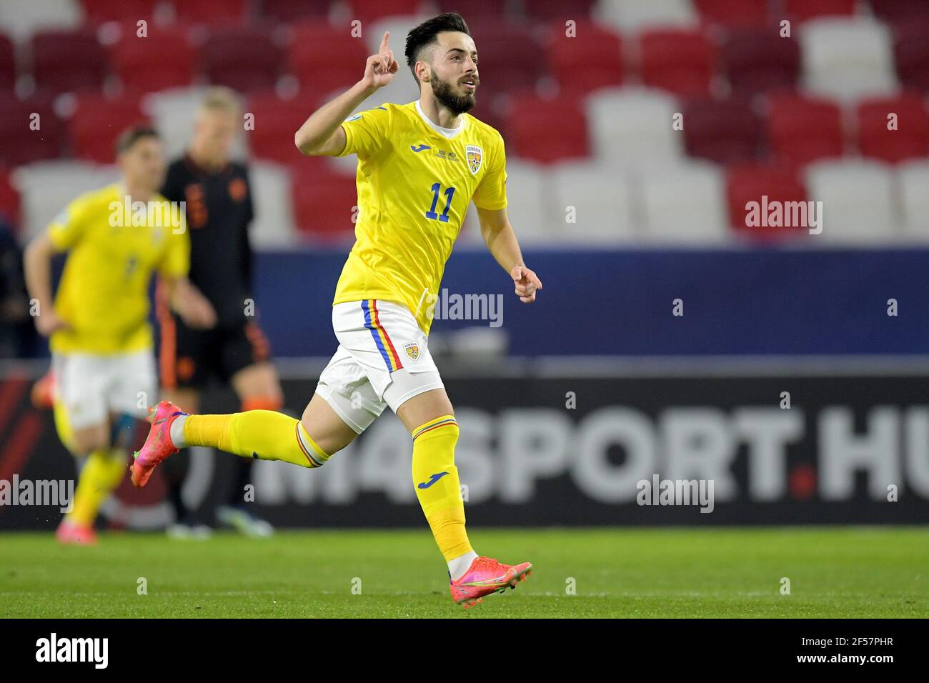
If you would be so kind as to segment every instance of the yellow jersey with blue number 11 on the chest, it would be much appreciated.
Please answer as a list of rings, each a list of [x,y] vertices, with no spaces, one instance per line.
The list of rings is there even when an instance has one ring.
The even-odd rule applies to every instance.
[[[425,333],[445,262],[468,204],[506,206],[504,139],[468,114],[450,131],[429,121],[419,102],[385,104],[342,124],[358,154],[355,245],[334,304],[396,301]],[[451,137],[448,137],[451,136]]]

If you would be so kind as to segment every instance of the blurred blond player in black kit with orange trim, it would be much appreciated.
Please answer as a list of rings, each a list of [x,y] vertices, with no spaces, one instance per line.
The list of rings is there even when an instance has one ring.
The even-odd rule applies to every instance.
[[[193,329],[166,306],[159,308],[164,398],[186,412],[199,410],[200,392],[211,377],[231,384],[242,410],[281,410],[283,393],[268,358],[268,340],[251,302],[252,248],[248,227],[254,217],[252,188],[244,164],[229,161],[229,148],[242,130],[242,114],[229,88],[207,91],[194,124],[187,153],[168,166],[162,194],[186,202],[190,228],[190,282],[216,309],[216,327]],[[250,536],[268,536],[267,521],[244,506],[252,459],[239,460],[228,504],[216,508],[216,520]],[[165,472],[177,523],[172,535],[205,535],[191,522],[181,499],[186,459],[172,458]]]

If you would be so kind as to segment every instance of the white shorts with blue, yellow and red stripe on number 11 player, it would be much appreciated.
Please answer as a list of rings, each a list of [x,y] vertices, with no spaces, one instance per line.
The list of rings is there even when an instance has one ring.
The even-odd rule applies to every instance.
[[[333,307],[339,348],[320,375],[316,392],[358,434],[390,406],[442,388],[426,335],[409,309],[381,299]]]

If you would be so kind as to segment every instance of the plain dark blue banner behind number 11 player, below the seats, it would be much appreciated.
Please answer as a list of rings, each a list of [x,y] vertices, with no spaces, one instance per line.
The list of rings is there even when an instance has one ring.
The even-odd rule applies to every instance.
[[[531,251],[544,290],[530,306],[485,251],[448,262],[442,297],[483,296],[499,314],[437,319],[505,335],[521,356],[925,354],[929,250]],[[278,356],[328,356],[343,252],[262,254],[258,320]],[[456,317],[453,307],[444,306]],[[463,311],[464,312],[464,311]],[[438,318],[438,316],[437,316]]]

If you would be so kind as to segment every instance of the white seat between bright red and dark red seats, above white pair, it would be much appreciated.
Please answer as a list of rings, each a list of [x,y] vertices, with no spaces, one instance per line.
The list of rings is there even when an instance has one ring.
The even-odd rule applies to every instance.
[[[621,87],[587,99],[591,151],[605,164],[666,164],[684,154],[683,131],[674,130],[677,99],[661,90]]]

